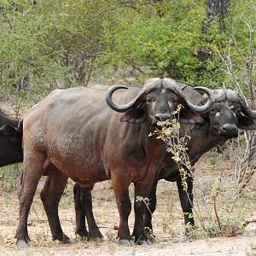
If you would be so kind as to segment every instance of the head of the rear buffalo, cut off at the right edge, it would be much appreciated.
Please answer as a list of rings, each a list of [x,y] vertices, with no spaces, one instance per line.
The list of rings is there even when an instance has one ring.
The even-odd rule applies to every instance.
[[[219,137],[238,136],[238,128],[254,130],[256,113],[247,107],[241,94],[234,90],[214,90],[215,102],[208,113],[210,131]]]

